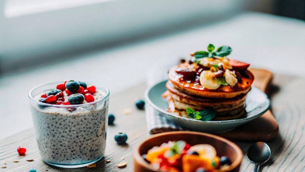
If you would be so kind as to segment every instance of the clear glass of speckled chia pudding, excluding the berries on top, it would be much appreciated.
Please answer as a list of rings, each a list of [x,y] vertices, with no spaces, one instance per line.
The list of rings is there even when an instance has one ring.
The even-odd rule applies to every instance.
[[[109,91],[106,88],[96,88],[91,94],[94,101],[90,103],[86,101],[87,94],[81,95],[85,97],[82,104],[41,102],[41,97],[54,88],[45,87],[56,84],[58,83],[40,85],[29,93],[41,158],[48,164],[60,167],[80,167],[95,163],[103,157],[106,147]],[[68,96],[67,92],[69,91],[62,91],[63,99],[69,99],[70,102],[72,95]]]

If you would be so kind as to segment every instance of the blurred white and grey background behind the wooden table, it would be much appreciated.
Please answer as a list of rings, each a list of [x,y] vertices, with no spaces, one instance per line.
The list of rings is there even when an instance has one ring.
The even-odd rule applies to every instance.
[[[287,2],[288,14],[285,3],[0,0],[0,139],[32,127],[27,93],[38,84],[81,80],[113,94],[166,76],[209,43],[251,67],[305,77],[304,2]]]

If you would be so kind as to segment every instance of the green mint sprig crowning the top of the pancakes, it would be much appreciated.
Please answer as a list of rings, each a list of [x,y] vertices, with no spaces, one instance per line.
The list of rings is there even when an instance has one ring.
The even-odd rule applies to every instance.
[[[194,53],[195,58],[204,58],[204,57],[209,57],[209,58],[216,58],[216,57],[224,57],[227,56],[231,53],[232,48],[228,46],[222,46],[217,48],[216,51],[213,52],[215,49],[213,44],[209,44],[207,47],[208,51],[197,51]]]

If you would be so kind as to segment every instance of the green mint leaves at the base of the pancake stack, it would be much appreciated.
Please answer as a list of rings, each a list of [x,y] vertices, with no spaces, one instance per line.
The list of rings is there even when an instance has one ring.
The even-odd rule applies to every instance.
[[[216,111],[214,109],[206,109],[202,111],[196,111],[192,108],[187,107],[186,112],[188,113],[188,117],[195,118],[200,121],[210,121],[216,115]]]

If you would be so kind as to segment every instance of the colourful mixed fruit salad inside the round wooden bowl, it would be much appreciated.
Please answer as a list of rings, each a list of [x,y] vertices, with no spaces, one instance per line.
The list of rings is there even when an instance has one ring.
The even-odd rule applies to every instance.
[[[142,155],[146,162],[160,171],[217,172],[231,165],[231,160],[217,156],[210,144],[190,146],[183,140],[169,141],[155,146]]]

